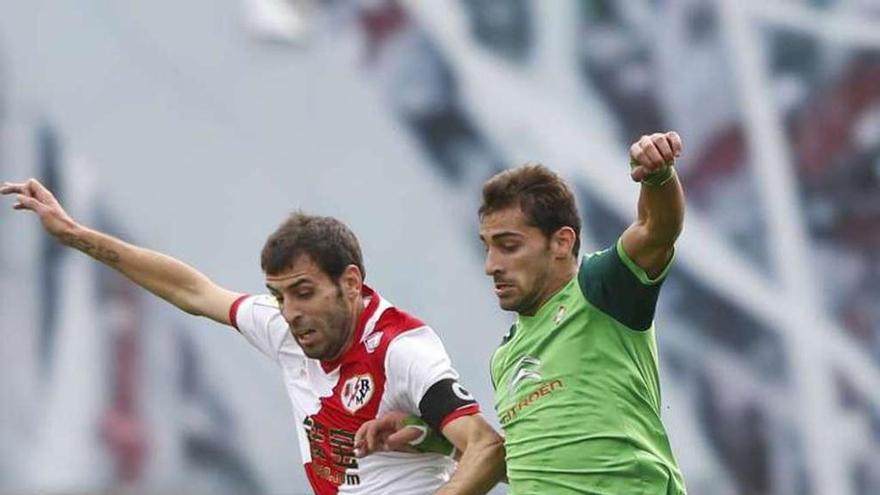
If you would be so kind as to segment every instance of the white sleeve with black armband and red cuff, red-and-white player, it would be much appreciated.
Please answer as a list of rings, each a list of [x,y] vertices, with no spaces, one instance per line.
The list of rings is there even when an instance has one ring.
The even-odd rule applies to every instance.
[[[385,355],[385,374],[406,412],[421,416],[435,431],[477,414],[480,407],[458,382],[443,343],[429,327],[397,336]]]

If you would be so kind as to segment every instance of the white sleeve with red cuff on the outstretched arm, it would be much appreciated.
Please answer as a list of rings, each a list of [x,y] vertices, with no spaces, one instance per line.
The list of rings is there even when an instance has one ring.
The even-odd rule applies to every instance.
[[[251,345],[279,362],[278,351],[287,334],[287,323],[275,298],[269,295],[242,297],[230,308],[229,319]]]

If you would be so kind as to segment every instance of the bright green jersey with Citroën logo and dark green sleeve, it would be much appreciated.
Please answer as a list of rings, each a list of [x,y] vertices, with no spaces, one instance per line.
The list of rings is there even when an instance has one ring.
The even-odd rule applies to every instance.
[[[660,421],[653,319],[666,270],[651,280],[618,241],[517,318],[492,356],[511,494],[685,493]]]

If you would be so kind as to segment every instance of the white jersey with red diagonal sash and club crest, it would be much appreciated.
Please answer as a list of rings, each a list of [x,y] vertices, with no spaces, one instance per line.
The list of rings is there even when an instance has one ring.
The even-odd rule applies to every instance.
[[[271,296],[244,296],[230,320],[281,368],[293,404],[306,474],[318,495],[433,493],[453,461],[439,454],[377,453],[357,459],[361,424],[389,411],[422,416],[437,429],[479,412],[434,331],[364,287],[355,342],[333,362],[305,356]]]

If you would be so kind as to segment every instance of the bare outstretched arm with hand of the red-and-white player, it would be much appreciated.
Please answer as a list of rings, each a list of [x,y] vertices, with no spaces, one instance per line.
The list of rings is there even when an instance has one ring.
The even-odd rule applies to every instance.
[[[218,286],[187,264],[78,224],[36,179],[4,182],[0,194],[15,195],[13,208],[34,212],[43,228],[65,246],[113,267],[187,313],[230,324],[229,308],[239,294]]]

